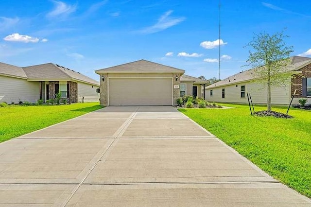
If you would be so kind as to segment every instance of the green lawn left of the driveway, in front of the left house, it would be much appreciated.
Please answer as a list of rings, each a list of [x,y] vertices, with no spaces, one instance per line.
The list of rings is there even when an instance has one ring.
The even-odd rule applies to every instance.
[[[99,103],[0,107],[0,142],[100,108]]]

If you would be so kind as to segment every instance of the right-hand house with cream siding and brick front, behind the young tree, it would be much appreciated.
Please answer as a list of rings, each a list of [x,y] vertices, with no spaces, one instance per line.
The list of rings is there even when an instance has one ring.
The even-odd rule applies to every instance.
[[[293,56],[288,71],[294,74],[286,86],[271,88],[271,104],[290,104],[296,90],[293,104],[299,98],[308,98],[311,104],[311,58]],[[252,97],[254,104],[267,103],[267,86],[253,81],[253,69],[242,71],[222,81],[206,87],[206,100],[209,102],[248,103],[246,93]]]

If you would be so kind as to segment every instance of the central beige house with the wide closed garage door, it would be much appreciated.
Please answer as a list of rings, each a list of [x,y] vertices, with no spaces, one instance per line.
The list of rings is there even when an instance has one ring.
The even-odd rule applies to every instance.
[[[202,96],[200,84],[205,83],[183,75],[185,70],[147,60],[95,72],[101,76],[102,105],[176,105],[180,96]]]

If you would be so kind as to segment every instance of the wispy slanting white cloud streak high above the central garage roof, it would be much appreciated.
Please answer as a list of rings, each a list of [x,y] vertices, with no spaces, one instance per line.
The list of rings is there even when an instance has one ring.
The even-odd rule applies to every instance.
[[[173,27],[174,25],[179,24],[180,22],[185,20],[185,17],[170,17],[172,13],[172,10],[165,12],[154,25],[146,27],[138,32],[143,34],[157,33]]]

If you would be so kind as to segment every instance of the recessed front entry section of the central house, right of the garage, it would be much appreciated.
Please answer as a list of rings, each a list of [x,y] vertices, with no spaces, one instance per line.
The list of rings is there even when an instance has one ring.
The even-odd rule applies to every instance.
[[[205,99],[205,85],[209,81],[204,81],[200,78],[195,78],[190,75],[183,74],[180,77],[180,96],[188,95]]]

